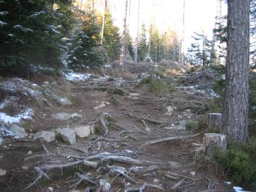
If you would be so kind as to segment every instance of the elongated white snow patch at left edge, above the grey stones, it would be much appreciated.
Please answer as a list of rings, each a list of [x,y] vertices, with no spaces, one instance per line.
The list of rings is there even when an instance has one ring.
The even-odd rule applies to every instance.
[[[20,113],[15,116],[10,116],[6,113],[0,113],[0,122],[4,122],[6,124],[19,123],[21,120],[31,119],[32,116],[34,116],[33,110],[29,108],[25,109],[23,113]]]

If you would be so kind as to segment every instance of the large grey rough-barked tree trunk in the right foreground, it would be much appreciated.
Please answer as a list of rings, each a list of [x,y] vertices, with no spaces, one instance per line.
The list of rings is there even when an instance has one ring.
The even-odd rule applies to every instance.
[[[221,132],[248,141],[250,0],[228,1],[226,86]]]

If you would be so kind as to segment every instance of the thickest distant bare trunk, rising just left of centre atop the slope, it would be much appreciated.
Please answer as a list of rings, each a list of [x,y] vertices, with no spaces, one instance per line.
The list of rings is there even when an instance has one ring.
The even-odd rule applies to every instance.
[[[121,40],[121,54],[120,54],[120,72],[124,71],[124,54],[125,54],[125,36],[126,36],[126,17],[127,17],[127,0],[125,0],[124,9],[124,22],[123,22],[123,33]]]

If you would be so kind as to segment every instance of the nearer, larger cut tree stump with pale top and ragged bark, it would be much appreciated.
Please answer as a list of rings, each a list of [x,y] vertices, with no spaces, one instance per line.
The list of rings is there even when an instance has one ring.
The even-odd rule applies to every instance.
[[[205,157],[213,160],[215,150],[225,152],[227,148],[227,138],[225,134],[205,133],[203,145],[205,147]]]

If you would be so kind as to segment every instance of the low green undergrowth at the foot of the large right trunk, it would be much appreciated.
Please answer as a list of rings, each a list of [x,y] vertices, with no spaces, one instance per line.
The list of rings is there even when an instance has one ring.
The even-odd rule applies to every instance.
[[[216,165],[235,184],[256,191],[256,138],[250,143],[228,142],[225,154],[216,152]]]

